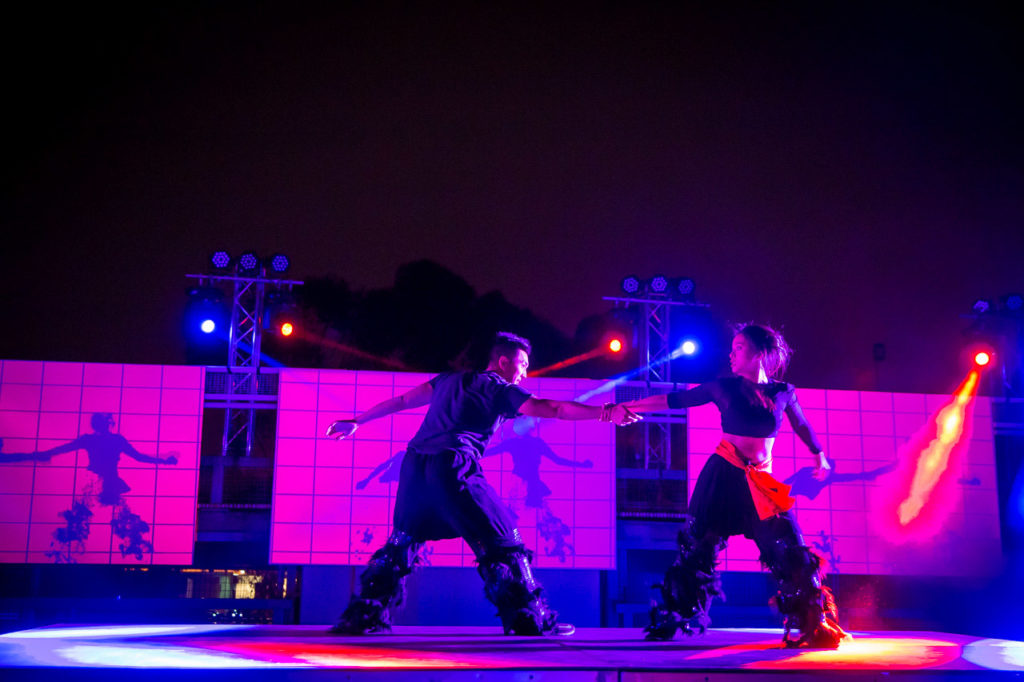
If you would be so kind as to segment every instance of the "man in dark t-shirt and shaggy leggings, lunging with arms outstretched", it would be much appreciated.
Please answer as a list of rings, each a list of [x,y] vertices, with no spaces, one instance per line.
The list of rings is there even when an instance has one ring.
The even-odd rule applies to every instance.
[[[530,571],[530,552],[513,515],[487,483],[480,457],[506,419],[517,415],[554,419],[599,419],[618,426],[640,419],[617,404],[590,406],[532,397],[519,387],[529,367],[529,342],[502,332],[495,337],[486,370],[446,372],[385,400],[354,419],[331,424],[341,439],[360,424],[429,404],[401,463],[394,528],[359,577],[334,634],[359,635],[391,629],[389,608],[401,603],[402,583],[428,540],[463,538],[476,555],[484,594],[498,607],[505,634],[571,634],[558,623]]]

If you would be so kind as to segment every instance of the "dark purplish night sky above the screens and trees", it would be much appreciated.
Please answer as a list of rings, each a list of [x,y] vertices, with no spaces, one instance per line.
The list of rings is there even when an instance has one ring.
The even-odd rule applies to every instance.
[[[994,4],[205,4],[5,22],[0,356],[181,361],[183,275],[254,248],[433,259],[568,334],[686,274],[798,383],[871,388],[885,342],[882,388],[948,391],[959,315],[1024,289]]]

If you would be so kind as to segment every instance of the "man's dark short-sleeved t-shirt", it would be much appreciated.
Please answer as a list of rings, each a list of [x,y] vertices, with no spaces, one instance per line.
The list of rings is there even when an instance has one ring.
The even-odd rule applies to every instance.
[[[458,450],[483,455],[490,436],[506,419],[519,414],[529,393],[494,372],[446,372],[430,380],[433,393],[427,416],[410,450],[438,453]]]

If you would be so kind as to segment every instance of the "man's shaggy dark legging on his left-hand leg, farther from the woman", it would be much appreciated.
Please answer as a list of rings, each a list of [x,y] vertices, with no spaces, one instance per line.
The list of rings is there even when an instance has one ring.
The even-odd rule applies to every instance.
[[[359,576],[359,593],[353,594],[338,625],[329,632],[336,635],[367,635],[391,632],[390,608],[406,596],[406,577],[419,562],[422,543],[412,536],[395,530],[370,558],[367,569]]]

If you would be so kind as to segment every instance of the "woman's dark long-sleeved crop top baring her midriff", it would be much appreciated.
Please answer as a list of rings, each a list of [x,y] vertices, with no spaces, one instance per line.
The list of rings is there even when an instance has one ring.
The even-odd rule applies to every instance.
[[[774,402],[774,409],[769,410],[752,401],[752,396],[743,391],[743,382],[751,383],[742,377],[722,377],[687,391],[674,391],[666,396],[669,409],[681,410],[714,402],[722,413],[724,432],[755,438],[774,438],[782,426],[784,412],[793,430],[811,452],[817,455],[822,451],[804,411],[800,409],[793,384],[772,381],[758,386],[757,390]],[[754,386],[748,386],[748,390]]]

